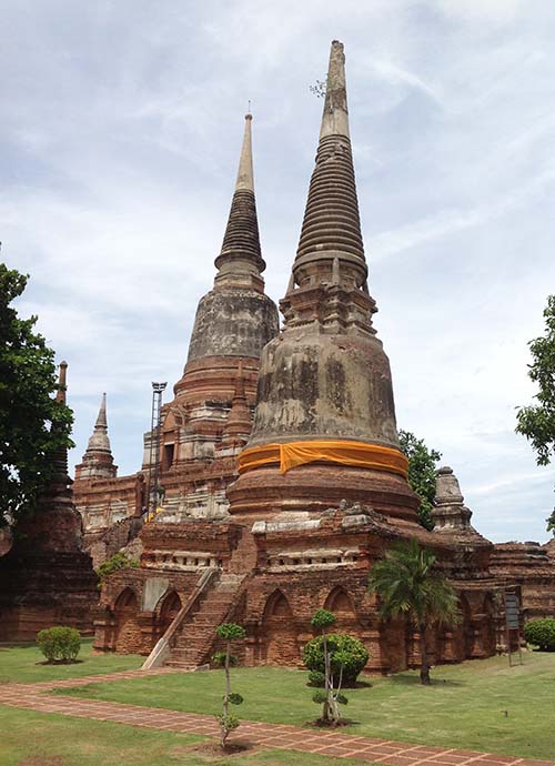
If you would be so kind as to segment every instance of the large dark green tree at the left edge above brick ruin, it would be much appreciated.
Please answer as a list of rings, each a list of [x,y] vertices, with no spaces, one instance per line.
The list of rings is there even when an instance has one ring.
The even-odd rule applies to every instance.
[[[52,396],[54,352],[10,304],[28,276],[0,263],[0,525],[32,513],[52,475],[49,455],[73,446],[72,413]]]

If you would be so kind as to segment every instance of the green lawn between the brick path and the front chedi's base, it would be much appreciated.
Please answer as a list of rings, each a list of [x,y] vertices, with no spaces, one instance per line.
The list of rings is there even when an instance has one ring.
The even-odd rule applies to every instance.
[[[442,666],[434,669],[427,688],[413,672],[373,678],[372,686],[346,693],[344,710],[353,720],[349,730],[555,760],[555,654],[527,653],[524,663],[509,668],[506,657],[493,657]],[[233,677],[234,691],[245,698],[238,710],[242,718],[303,726],[316,717],[305,673],[236,668]],[[71,694],[215,714],[222,691],[222,672],[210,671],[90,684]]]

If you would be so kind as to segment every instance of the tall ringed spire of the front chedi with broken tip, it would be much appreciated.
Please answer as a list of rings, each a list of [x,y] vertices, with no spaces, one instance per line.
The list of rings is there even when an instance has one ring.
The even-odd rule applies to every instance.
[[[343,43],[334,40],[330,53],[326,92],[316,165],[312,173],[309,199],[293,266],[299,285],[332,281],[362,288],[367,268],[359,216],[353,155],[349,138]]]

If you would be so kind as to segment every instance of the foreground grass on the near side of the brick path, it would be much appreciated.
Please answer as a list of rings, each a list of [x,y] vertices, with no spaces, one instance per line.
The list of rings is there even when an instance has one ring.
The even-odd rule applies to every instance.
[[[359,766],[360,763],[287,750],[225,757],[200,749],[199,743],[204,740],[193,735],[1,706],[0,730],[2,766]]]

